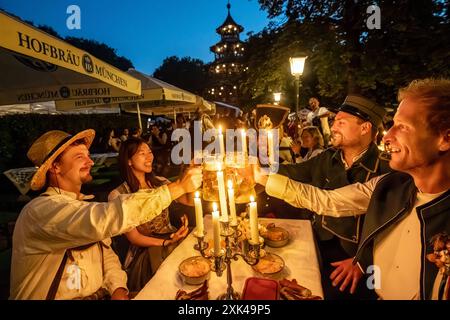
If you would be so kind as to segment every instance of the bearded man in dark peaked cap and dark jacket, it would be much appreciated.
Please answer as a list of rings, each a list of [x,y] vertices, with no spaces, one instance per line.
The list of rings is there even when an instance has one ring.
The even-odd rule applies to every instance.
[[[336,189],[356,182],[366,182],[372,177],[389,171],[387,161],[380,159],[375,144],[378,128],[385,111],[363,96],[348,95],[337,109],[331,127],[332,147],[310,160],[292,165],[280,165],[279,174],[316,187]],[[335,218],[297,209],[282,198],[271,198],[274,212],[282,211],[283,217],[312,217],[322,264],[322,286],[326,299],[371,298],[365,288],[358,288],[355,295],[340,292],[332,286],[330,276],[335,267],[351,264],[361,239],[364,216]],[[306,211],[306,212],[305,212]],[[354,289],[354,288],[353,288]]]

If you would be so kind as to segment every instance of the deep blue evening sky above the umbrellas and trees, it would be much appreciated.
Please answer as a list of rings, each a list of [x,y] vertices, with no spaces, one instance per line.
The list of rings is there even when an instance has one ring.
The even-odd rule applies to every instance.
[[[244,27],[241,39],[269,23],[257,0],[230,3],[232,17]],[[72,4],[81,9],[81,30],[66,27]],[[227,16],[226,5],[226,0],[0,0],[0,8],[64,37],[104,42],[148,74],[172,55],[212,61],[209,47],[220,39],[215,29]]]

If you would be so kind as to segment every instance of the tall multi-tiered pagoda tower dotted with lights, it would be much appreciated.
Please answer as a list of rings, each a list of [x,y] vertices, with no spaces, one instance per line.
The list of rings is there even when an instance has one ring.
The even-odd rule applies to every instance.
[[[230,1],[228,1],[227,18],[216,29],[221,39],[210,47],[215,59],[209,69],[211,82],[208,96],[211,100],[237,104],[239,98],[238,79],[240,73],[245,71],[241,62],[245,48],[244,43],[239,39],[239,34],[244,31],[244,28],[231,17],[230,8]]]

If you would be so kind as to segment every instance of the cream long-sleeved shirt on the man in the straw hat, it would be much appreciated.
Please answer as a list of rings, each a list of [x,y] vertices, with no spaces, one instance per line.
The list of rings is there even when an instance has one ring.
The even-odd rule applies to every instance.
[[[120,195],[110,202],[86,202],[75,193],[49,188],[30,201],[17,219],[10,299],[45,299],[67,248],[98,241],[109,245],[110,237],[151,220],[171,201],[167,186]],[[100,287],[110,293],[126,288],[126,275],[111,248],[104,249],[103,277],[98,245],[74,253],[74,259],[66,264],[57,299],[87,296]]]

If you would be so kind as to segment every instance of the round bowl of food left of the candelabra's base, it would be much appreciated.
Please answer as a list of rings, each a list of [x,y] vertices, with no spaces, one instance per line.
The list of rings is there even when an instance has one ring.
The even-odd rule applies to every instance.
[[[198,285],[202,284],[209,278],[211,270],[211,263],[208,259],[201,256],[190,257],[183,260],[179,267],[178,272],[187,284]]]

